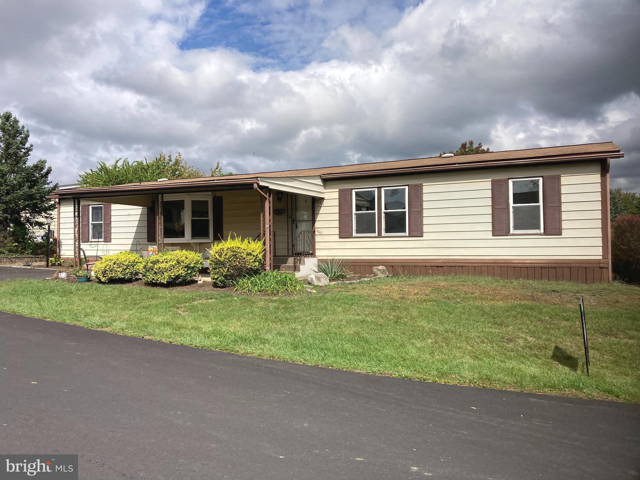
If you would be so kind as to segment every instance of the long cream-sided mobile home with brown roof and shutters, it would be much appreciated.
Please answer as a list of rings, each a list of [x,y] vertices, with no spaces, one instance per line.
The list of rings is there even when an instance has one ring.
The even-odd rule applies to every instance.
[[[589,143],[61,189],[58,238],[76,261],[80,247],[205,253],[237,234],[265,239],[268,269],[342,257],[360,274],[607,282],[609,161],[622,156]]]

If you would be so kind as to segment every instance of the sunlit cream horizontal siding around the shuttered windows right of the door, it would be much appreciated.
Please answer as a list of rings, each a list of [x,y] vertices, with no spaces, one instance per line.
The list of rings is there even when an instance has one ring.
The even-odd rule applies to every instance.
[[[493,237],[491,179],[561,175],[561,236]],[[338,237],[338,189],[420,183],[424,237]],[[330,180],[317,201],[319,258],[600,259],[600,164],[556,164],[375,179]]]

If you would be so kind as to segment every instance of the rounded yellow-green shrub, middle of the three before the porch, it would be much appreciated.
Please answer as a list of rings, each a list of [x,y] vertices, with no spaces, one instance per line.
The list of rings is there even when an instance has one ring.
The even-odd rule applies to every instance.
[[[198,275],[203,264],[200,253],[189,250],[165,251],[143,260],[141,276],[145,284],[186,284]]]

